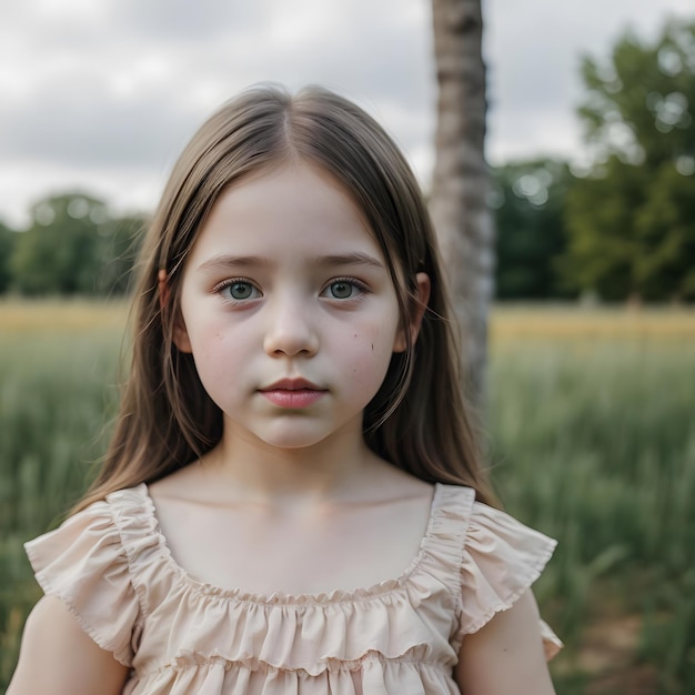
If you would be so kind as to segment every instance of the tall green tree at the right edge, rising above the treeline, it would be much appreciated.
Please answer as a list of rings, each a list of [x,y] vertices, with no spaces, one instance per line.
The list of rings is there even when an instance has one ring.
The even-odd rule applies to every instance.
[[[592,167],[568,193],[563,268],[606,299],[695,299],[695,23],[627,33],[582,74]]]

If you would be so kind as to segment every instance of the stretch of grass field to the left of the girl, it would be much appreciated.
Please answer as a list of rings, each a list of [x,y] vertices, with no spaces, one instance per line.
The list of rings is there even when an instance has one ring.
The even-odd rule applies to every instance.
[[[0,304],[0,692],[40,596],[22,543],[60,521],[103,452],[123,316],[120,305]]]

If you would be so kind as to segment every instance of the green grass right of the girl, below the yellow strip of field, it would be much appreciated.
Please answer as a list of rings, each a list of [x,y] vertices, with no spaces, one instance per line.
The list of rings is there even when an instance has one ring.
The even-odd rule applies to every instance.
[[[536,591],[568,645],[557,667],[581,665],[592,622],[638,615],[616,658],[653,665],[657,689],[641,692],[693,692],[695,351],[505,344],[491,381],[505,506],[561,542]]]

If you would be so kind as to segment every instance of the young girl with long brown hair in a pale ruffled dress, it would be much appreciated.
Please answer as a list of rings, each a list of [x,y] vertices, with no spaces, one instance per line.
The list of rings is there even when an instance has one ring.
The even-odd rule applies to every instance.
[[[425,204],[366,113],[224,105],[135,302],[101,473],[27,544],[11,695],[553,692],[554,542],[490,506]]]

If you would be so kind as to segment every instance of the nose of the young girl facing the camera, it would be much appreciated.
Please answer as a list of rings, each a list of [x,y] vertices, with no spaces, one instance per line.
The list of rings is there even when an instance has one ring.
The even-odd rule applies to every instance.
[[[313,355],[319,350],[315,308],[300,300],[284,299],[268,309],[263,348],[269,355]]]

